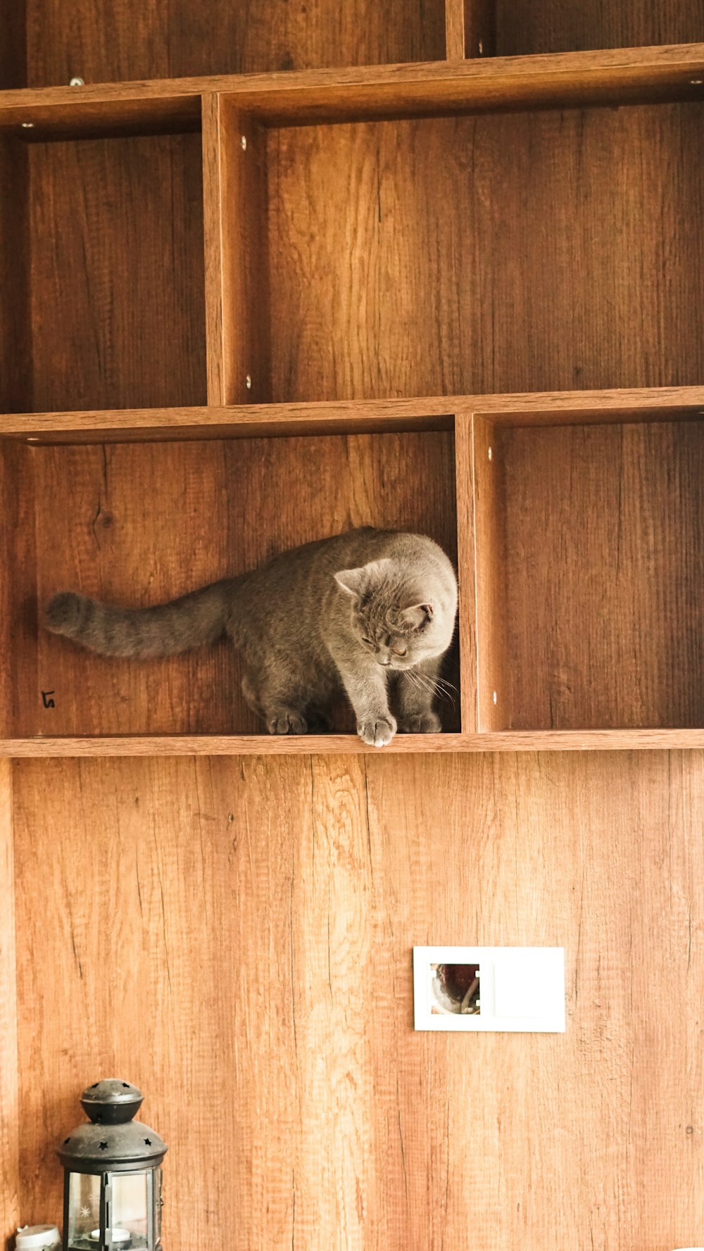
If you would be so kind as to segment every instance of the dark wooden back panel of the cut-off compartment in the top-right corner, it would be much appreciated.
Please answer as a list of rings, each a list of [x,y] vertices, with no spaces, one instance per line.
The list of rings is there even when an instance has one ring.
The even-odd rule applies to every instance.
[[[704,38],[701,0],[495,0],[496,51],[568,53],[639,44],[691,44]]]

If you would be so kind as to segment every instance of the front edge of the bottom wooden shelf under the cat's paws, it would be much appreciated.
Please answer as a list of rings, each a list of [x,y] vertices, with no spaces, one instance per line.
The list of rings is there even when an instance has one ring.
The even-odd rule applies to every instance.
[[[104,738],[6,738],[10,759],[89,756],[349,756],[468,752],[614,752],[704,749],[703,729],[545,729],[483,734],[398,734],[368,747],[354,734],[154,734]]]

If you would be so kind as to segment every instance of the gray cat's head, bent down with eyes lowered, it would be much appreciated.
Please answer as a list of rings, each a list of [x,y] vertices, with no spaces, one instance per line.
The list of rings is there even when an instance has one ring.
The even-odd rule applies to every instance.
[[[410,669],[440,656],[454,629],[454,603],[438,585],[418,585],[398,560],[370,560],[341,569],[335,582],[350,599],[351,629],[378,664]]]

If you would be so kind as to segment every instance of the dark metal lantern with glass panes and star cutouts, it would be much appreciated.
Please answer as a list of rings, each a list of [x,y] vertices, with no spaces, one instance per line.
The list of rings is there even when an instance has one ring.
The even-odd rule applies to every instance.
[[[89,1121],[58,1147],[64,1175],[64,1251],[161,1251],[166,1143],[133,1121],[143,1095],[108,1077],[81,1095]]]

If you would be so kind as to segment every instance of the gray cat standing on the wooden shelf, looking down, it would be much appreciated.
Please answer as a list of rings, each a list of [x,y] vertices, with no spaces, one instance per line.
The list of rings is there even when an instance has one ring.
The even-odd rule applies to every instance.
[[[244,658],[245,699],[270,734],[325,724],[344,687],[360,738],[383,747],[396,729],[441,728],[433,699],[456,607],[454,569],[433,539],[366,527],[155,608],[113,608],[65,590],[45,624],[101,656],[136,658],[175,656],[226,633]]]

